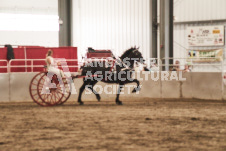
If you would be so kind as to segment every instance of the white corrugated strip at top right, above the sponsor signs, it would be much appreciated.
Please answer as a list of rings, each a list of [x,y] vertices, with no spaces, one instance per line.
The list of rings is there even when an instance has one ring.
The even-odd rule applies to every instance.
[[[225,0],[174,0],[176,21],[226,19]]]

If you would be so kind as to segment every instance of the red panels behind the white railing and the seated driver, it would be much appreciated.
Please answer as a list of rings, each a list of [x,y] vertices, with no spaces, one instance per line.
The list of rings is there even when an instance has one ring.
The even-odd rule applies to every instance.
[[[15,59],[23,59],[23,60],[12,60],[10,62],[11,72],[40,72],[43,71],[44,65],[46,62],[44,61],[46,58],[47,51],[51,49],[53,50],[53,58],[62,58],[66,60],[73,59],[73,61],[68,61],[67,65],[69,66],[70,72],[76,72],[78,70],[78,62],[75,61],[77,59],[77,48],[76,47],[20,47],[14,48]],[[6,58],[7,49],[4,48],[2,52],[0,52],[0,56],[2,58]],[[27,59],[25,61],[25,58]],[[29,60],[30,59],[30,60]],[[36,60],[42,59],[42,60]],[[1,64],[0,64],[1,65]],[[76,67],[70,67],[76,66]],[[0,72],[5,72],[5,69],[0,69]]]

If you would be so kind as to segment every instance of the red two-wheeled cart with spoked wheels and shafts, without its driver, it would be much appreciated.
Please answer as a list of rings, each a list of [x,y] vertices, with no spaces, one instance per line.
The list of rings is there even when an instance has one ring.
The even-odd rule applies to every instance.
[[[110,71],[112,71],[115,64],[115,60],[114,59],[110,60],[110,62],[112,63]],[[55,74],[52,74],[53,76],[51,78],[49,78],[47,75],[48,72],[46,70],[46,67],[44,67],[43,72],[36,74],[32,78],[29,86],[29,92],[32,100],[40,106],[62,105],[71,96],[72,84],[74,84],[72,78],[75,79],[86,77],[77,75],[74,77],[63,78],[62,81],[59,81]],[[97,75],[91,75],[91,77],[96,76]],[[53,87],[50,88],[48,86],[46,87],[45,81],[48,80],[48,78],[49,80],[51,80],[50,83],[54,84],[55,86],[54,88]],[[48,91],[48,93],[46,93],[46,91]]]

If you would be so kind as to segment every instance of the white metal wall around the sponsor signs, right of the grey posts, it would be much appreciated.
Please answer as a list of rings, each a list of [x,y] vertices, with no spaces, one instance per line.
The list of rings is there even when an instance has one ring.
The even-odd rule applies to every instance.
[[[186,58],[187,49],[219,49],[226,50],[223,47],[189,47],[187,41],[187,27],[189,26],[215,26],[224,25],[226,30],[226,21],[214,22],[214,20],[226,19],[226,1],[225,0],[174,0],[175,22],[194,22],[181,23],[174,25],[174,57]],[[197,21],[208,21],[209,23],[197,23]],[[226,37],[226,36],[225,36]],[[182,64],[186,60],[180,60]],[[220,72],[219,66],[197,66],[197,71],[216,71]]]

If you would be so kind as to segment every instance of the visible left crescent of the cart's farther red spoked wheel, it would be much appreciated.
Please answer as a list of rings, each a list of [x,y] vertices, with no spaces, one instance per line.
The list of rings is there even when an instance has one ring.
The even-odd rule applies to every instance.
[[[31,98],[35,103],[41,106],[48,106],[48,104],[43,102],[42,99],[39,97],[39,92],[38,92],[38,82],[43,75],[45,75],[45,73],[40,72],[33,77],[33,79],[30,82],[29,91],[30,91]]]

